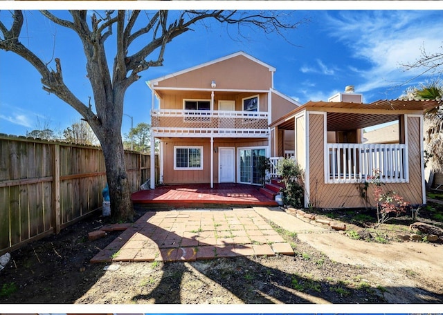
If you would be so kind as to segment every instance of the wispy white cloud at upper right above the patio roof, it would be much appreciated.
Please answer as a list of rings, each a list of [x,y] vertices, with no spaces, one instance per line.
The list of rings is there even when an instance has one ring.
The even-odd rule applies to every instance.
[[[370,68],[361,70],[359,92],[401,84],[420,70],[404,71],[401,64],[421,57],[421,48],[437,52],[442,46],[443,21],[430,11],[344,11],[327,16],[327,28],[334,37],[364,59]]]

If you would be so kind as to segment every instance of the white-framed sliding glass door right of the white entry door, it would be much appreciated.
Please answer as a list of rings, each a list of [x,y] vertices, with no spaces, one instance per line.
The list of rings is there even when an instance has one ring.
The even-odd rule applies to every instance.
[[[262,183],[262,177],[257,168],[260,156],[266,157],[266,149],[239,149],[239,182]]]

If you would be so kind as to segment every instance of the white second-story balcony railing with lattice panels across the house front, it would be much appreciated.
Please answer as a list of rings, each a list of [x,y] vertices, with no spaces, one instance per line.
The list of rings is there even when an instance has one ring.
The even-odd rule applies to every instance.
[[[151,111],[155,137],[268,137],[268,113],[251,111]]]

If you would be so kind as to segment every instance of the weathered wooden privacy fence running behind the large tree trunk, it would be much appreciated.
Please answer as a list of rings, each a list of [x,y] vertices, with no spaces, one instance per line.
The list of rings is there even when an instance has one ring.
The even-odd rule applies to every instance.
[[[125,162],[138,191],[150,178],[150,155],[127,151]],[[105,185],[97,147],[0,135],[0,255],[100,209]]]

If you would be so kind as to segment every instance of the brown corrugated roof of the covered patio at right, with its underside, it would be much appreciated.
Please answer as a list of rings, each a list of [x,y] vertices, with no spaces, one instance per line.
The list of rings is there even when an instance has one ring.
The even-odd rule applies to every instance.
[[[398,115],[422,115],[424,111],[439,106],[437,100],[381,99],[370,104],[347,102],[312,102],[296,108],[271,123],[271,128],[293,130],[294,117],[302,111],[327,113],[327,131],[346,131],[393,122]]]

